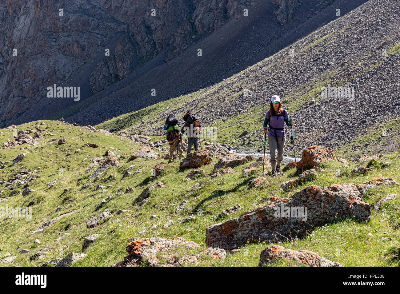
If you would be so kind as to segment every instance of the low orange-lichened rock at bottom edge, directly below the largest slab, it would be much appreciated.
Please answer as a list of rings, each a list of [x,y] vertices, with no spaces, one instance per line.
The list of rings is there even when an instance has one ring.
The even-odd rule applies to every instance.
[[[300,265],[306,266],[342,266],[340,263],[330,261],[312,251],[296,251],[285,249],[278,245],[268,246],[261,251],[260,263],[258,266],[266,266],[279,259],[292,260]]]

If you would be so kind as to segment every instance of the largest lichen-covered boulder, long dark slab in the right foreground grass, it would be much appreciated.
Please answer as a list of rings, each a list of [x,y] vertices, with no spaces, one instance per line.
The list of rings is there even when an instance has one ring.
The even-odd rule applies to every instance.
[[[326,222],[354,217],[369,221],[370,205],[353,184],[310,186],[288,199],[245,212],[206,228],[207,246],[234,249],[247,242],[292,240]]]

